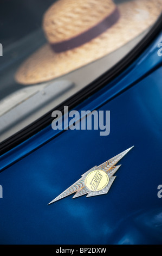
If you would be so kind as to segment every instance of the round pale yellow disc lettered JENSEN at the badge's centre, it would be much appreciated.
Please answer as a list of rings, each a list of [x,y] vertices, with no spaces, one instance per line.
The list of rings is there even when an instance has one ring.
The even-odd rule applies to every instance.
[[[108,175],[103,170],[93,170],[88,173],[85,179],[85,185],[90,191],[103,190],[108,185]]]

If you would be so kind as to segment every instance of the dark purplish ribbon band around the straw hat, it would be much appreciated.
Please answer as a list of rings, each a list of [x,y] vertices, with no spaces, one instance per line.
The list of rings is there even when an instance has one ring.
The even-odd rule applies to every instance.
[[[90,40],[107,31],[107,29],[111,28],[119,20],[119,18],[119,9],[116,7],[112,14],[108,15],[104,20],[98,23],[98,25],[88,29],[88,31],[83,32],[69,40],[50,44],[50,46],[57,53],[72,50],[76,47],[86,44]]]

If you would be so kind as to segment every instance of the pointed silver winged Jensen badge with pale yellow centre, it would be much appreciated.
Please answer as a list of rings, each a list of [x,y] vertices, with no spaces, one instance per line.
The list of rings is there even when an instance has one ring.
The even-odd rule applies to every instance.
[[[89,169],[88,172],[82,175],[80,180],[77,180],[72,186],[62,192],[49,204],[52,204],[57,200],[67,197],[69,194],[73,193],[76,193],[73,198],[83,196],[84,194],[87,194],[87,197],[107,194],[116,178],[116,176],[113,175],[121,166],[121,164],[119,166],[115,166],[115,164],[118,163],[133,147],[123,151],[119,155],[114,156],[105,163],[100,164],[100,166],[95,166]]]

